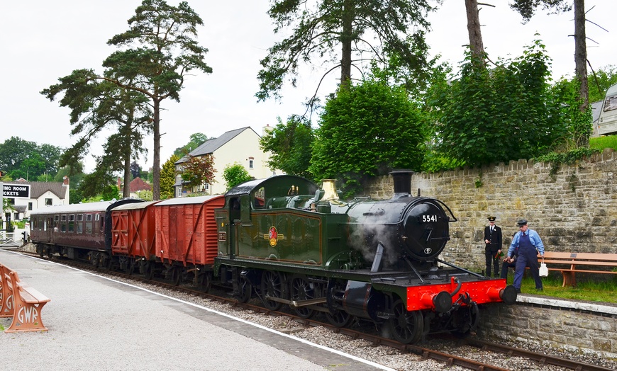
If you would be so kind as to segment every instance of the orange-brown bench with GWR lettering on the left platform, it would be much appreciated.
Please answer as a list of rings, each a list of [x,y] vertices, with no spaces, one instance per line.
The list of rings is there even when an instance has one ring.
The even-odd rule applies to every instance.
[[[41,309],[50,299],[21,282],[16,271],[0,265],[2,280],[2,307],[0,316],[13,317],[6,333],[23,331],[48,331],[43,325]]]

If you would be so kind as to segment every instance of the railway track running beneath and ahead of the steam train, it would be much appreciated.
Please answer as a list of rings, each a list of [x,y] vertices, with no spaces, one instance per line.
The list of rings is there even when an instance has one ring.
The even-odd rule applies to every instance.
[[[35,256],[36,258],[40,258],[35,253],[30,253],[27,251],[21,251],[21,253],[26,253],[30,256]],[[49,260],[49,258],[42,258],[43,260]],[[305,319],[295,314],[284,312],[284,311],[272,311],[265,307],[262,307],[258,300],[253,299],[248,303],[240,303],[235,299],[231,298],[226,294],[224,290],[221,288],[214,287],[214,290],[211,292],[203,292],[200,290],[195,290],[194,287],[190,285],[174,285],[170,282],[165,282],[164,280],[157,279],[149,279],[140,275],[128,275],[126,273],[120,273],[113,270],[107,270],[104,268],[96,268],[89,263],[76,262],[68,259],[61,258],[59,256],[53,256],[52,261],[57,261],[59,263],[63,263],[67,266],[72,266],[75,268],[80,268],[82,270],[87,270],[90,272],[96,272],[99,274],[110,275],[113,278],[122,278],[123,280],[128,280],[130,282],[140,282],[145,285],[155,285],[156,287],[160,287],[165,290],[172,290],[174,292],[184,293],[187,295],[191,295],[194,297],[199,297],[203,299],[210,299],[214,302],[218,302],[221,304],[227,304],[231,308],[234,309],[243,309],[246,311],[251,311],[254,313],[264,314],[266,316],[284,316],[289,321],[294,321],[298,326],[310,328],[323,328],[332,331],[333,333],[339,333],[344,336],[348,336],[353,340],[362,339],[371,344],[371,346],[386,346],[389,348],[393,348],[399,350],[401,353],[413,353],[415,355],[420,356],[423,360],[435,360],[440,363],[443,363],[446,367],[459,366],[468,370],[511,370],[510,368],[499,367],[497,365],[491,365],[488,363],[480,362],[477,360],[472,360],[466,358],[462,355],[454,355],[450,353],[444,353],[443,351],[437,349],[426,348],[423,346],[402,344],[398,341],[392,340],[390,338],[385,338],[384,336],[380,336],[377,331],[374,329],[350,329],[350,328],[339,328],[335,327],[329,322],[320,321],[318,319]],[[494,355],[506,355],[506,357],[520,357],[529,360],[531,363],[535,365],[552,365],[557,367],[562,367],[562,370],[577,370],[577,371],[609,371],[613,370],[611,368],[602,367],[599,365],[591,365],[588,363],[581,363],[577,360],[569,360],[567,358],[560,358],[547,354],[535,353],[529,350],[525,350],[522,348],[513,348],[509,346],[503,346],[497,343],[490,343],[487,341],[481,341],[475,338],[465,338],[465,339],[455,339],[451,337],[443,337],[440,338],[442,341],[450,342],[455,345],[455,348],[460,348],[463,346],[470,346],[476,348],[485,353],[491,353]]]

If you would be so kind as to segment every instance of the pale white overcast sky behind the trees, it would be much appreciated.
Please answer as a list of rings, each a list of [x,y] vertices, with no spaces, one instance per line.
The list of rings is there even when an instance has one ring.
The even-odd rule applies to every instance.
[[[179,1],[168,0],[177,5]],[[189,76],[180,92],[180,103],[163,101],[161,132],[161,164],[174,149],[182,147],[195,132],[218,137],[228,130],[250,126],[258,134],[265,125],[277,124],[277,116],[285,120],[291,114],[304,113],[301,102],[312,96],[321,78],[320,65],[304,68],[298,88],[287,87],[281,102],[257,103],[259,61],[267,48],[282,40],[273,33],[267,16],[269,1],[189,0],[189,6],[204,20],[199,28],[199,41],[209,49],[206,63],[213,73]],[[484,26],[484,47],[492,60],[518,57],[530,45],[534,34],[546,45],[552,57],[553,76],[574,75],[574,22],[572,12],[545,15],[538,11],[532,20],[521,24],[521,16],[512,11],[507,1],[483,1],[496,7],[483,6],[480,21]],[[32,0],[5,1],[0,11],[0,45],[2,89],[0,89],[0,143],[12,136],[60,147],[77,141],[71,137],[68,108],[50,102],[40,91],[57,83],[74,69],[92,68],[102,72],[101,63],[114,50],[106,45],[113,35],[128,28],[140,0]],[[617,65],[617,33],[615,1],[587,0],[588,59],[594,69]],[[433,54],[457,65],[463,59],[467,38],[465,1],[445,0],[430,16],[433,32],[428,43]],[[339,72],[330,73],[322,84],[320,95],[331,93]],[[91,144],[91,154],[100,155],[104,138]],[[146,139],[152,147],[152,138]],[[152,164],[152,151],[138,161],[143,168]],[[94,168],[87,156],[86,170]]]

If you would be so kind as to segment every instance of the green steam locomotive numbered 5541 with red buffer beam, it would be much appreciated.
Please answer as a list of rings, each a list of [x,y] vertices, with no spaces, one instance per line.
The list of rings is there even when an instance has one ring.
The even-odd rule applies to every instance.
[[[411,173],[392,176],[389,200],[343,201],[334,181],[319,188],[297,176],[233,188],[215,210],[214,273],[242,301],[257,295],[272,310],[323,312],[335,326],[373,321],[404,343],[465,335],[479,305],[515,302],[506,280],[438,258],[456,218],[443,202],[411,195]]]

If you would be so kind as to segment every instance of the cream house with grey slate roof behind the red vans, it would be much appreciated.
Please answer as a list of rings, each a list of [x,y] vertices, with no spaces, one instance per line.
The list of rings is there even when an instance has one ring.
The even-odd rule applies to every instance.
[[[264,130],[270,129],[269,126],[264,127]],[[189,153],[190,156],[206,156],[210,154],[214,158],[214,182],[211,184],[203,184],[201,187],[187,189],[182,185],[182,178],[176,176],[175,197],[182,197],[190,192],[199,192],[210,195],[220,195],[225,193],[226,184],[223,179],[223,171],[226,166],[238,163],[248,171],[250,176],[255,179],[267,178],[282,171],[270,169],[267,166],[269,154],[260,149],[261,136],[252,130],[251,127],[241,127],[240,129],[230,130],[223,133],[218,138],[210,139],[201,144]],[[182,169],[182,164],[187,162],[186,156],[175,162],[176,171]]]

